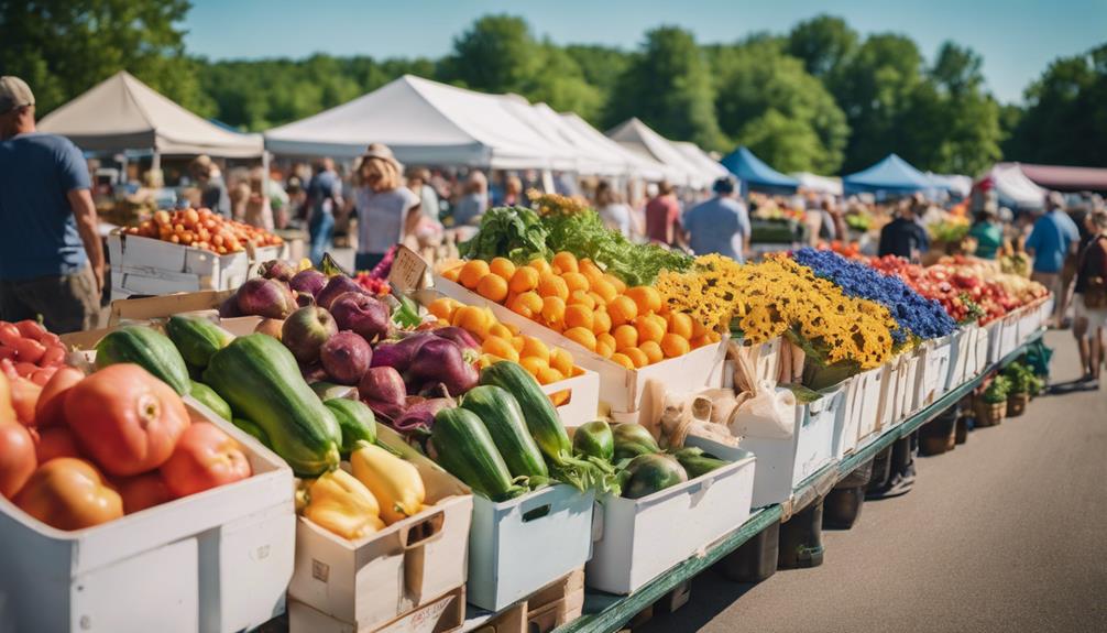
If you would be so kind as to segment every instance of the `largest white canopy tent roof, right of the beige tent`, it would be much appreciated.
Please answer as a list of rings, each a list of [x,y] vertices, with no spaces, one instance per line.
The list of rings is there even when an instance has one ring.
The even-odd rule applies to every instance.
[[[275,154],[353,158],[384,143],[403,163],[494,169],[550,168],[556,151],[503,95],[404,75],[380,89],[266,132]]]

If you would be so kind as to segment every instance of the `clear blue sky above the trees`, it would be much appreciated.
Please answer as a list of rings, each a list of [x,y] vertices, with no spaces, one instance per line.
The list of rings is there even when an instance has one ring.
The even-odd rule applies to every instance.
[[[928,59],[944,40],[973,48],[984,56],[989,86],[1002,101],[1020,101],[1051,60],[1107,41],[1107,0],[194,0],[186,43],[190,53],[211,59],[314,52],[435,58],[447,53],[454,35],[474,19],[494,12],[523,15],[536,33],[560,44],[624,49],[659,24],[690,29],[701,42],[727,42],[751,32],[783,32],[826,12],[861,33],[906,33]]]

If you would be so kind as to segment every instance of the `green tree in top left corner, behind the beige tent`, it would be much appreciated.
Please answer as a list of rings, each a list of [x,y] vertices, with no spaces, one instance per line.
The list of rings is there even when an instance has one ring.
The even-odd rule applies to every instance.
[[[46,114],[121,70],[199,114],[213,103],[185,58],[187,0],[0,2],[0,69]]]

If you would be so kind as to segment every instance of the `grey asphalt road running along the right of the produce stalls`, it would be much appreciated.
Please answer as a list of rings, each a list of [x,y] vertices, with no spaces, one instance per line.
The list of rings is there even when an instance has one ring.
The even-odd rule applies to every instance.
[[[1077,375],[1049,332],[1054,382]],[[1107,383],[1107,381],[1104,381]],[[824,531],[821,567],[757,585],[714,570],[642,631],[1107,631],[1107,385],[1047,396],[918,461],[914,489]]]

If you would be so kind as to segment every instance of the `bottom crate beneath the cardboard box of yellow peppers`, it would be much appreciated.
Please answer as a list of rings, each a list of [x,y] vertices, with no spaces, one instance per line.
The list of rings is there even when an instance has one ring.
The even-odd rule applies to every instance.
[[[448,633],[465,623],[465,587],[458,587],[441,598],[385,623],[379,629],[359,627],[297,600],[288,604],[289,631],[312,633]]]

